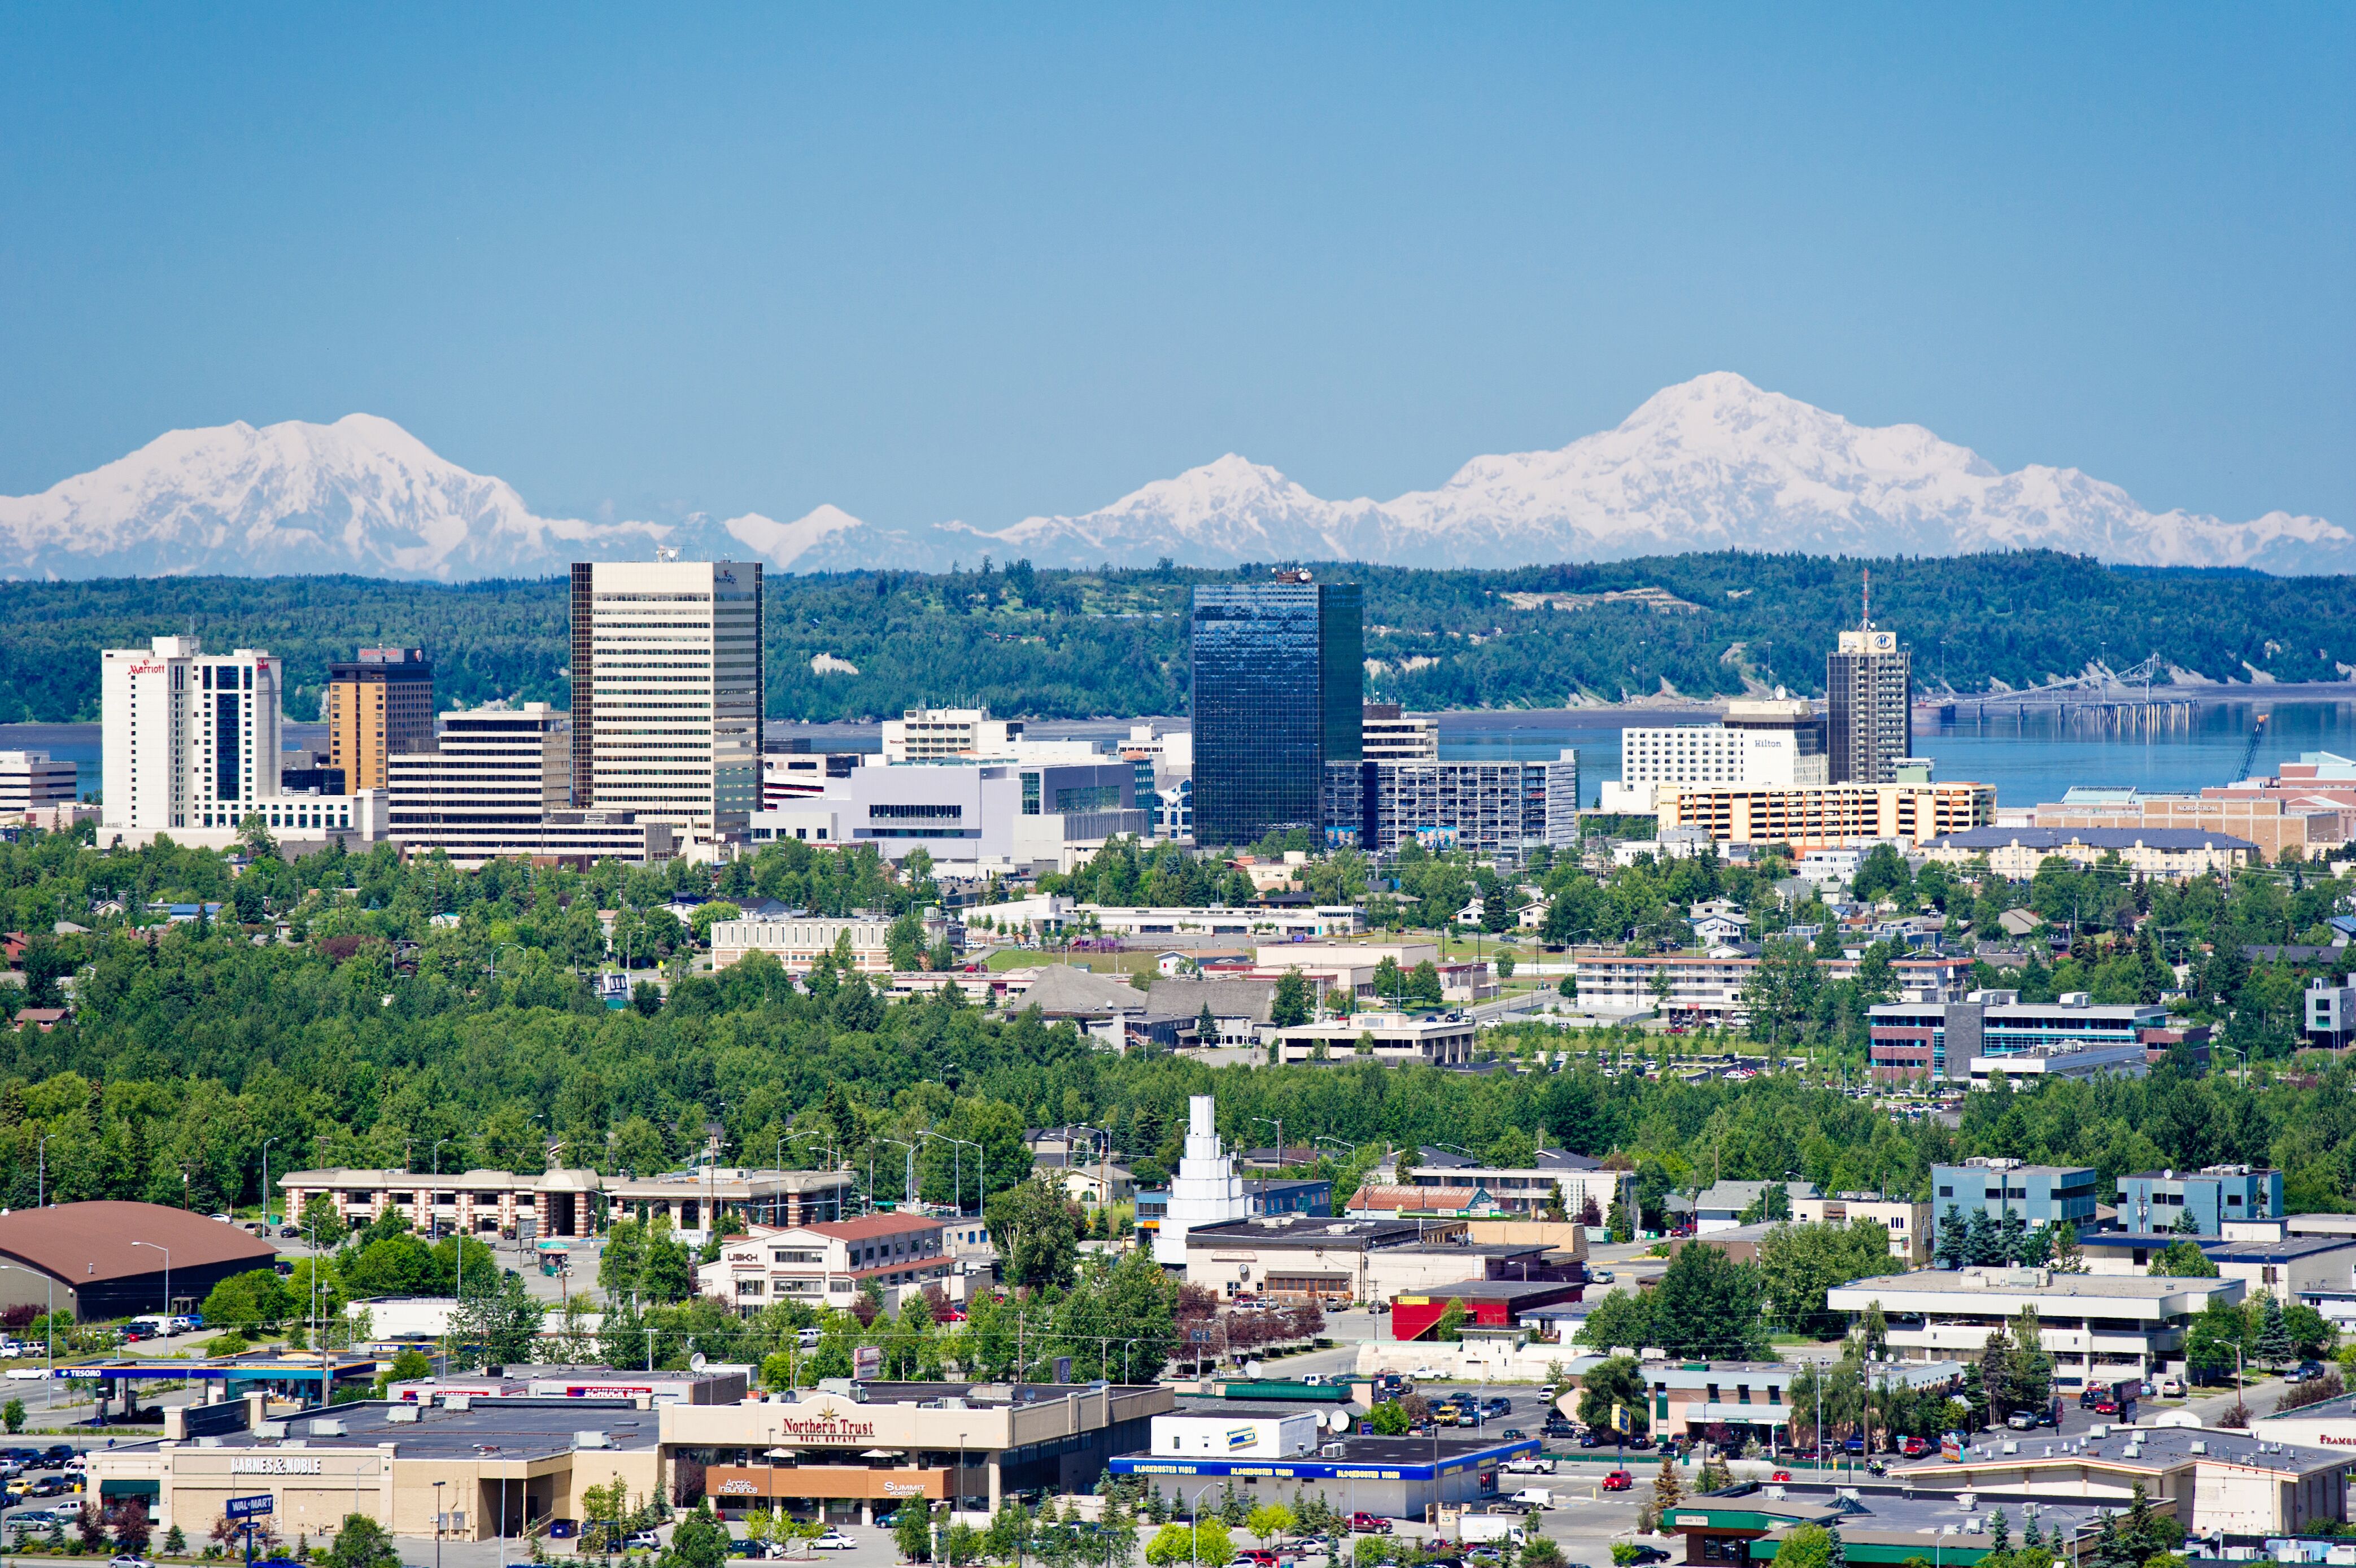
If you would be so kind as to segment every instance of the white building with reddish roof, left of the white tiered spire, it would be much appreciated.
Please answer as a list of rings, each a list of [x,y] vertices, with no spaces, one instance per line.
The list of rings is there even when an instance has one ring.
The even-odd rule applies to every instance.
[[[862,1215],[818,1224],[766,1227],[721,1245],[716,1262],[695,1271],[697,1288],[740,1316],[775,1302],[843,1307],[874,1283],[898,1309],[905,1293],[940,1285],[947,1293],[957,1260],[947,1227],[924,1215]]]

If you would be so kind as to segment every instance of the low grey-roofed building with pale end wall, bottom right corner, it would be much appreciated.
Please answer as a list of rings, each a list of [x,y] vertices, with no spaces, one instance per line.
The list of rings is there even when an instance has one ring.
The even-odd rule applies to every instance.
[[[2069,1441],[1986,1434],[1960,1460],[1901,1464],[1894,1481],[1944,1493],[2026,1493],[2125,1507],[2137,1486],[2193,1535],[2307,1535],[2347,1514],[2356,1455],[2257,1431],[2094,1427]]]

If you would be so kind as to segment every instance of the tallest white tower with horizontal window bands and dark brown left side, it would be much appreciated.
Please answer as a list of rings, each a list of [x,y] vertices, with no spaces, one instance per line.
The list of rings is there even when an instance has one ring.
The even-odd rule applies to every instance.
[[[740,831],[761,808],[761,563],[573,565],[573,805]]]

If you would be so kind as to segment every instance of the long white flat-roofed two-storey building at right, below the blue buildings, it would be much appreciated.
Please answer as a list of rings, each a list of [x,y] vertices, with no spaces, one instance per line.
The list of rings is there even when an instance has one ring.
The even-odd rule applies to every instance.
[[[2052,1269],[1955,1269],[1866,1278],[1826,1293],[1833,1311],[1880,1304],[1890,1351],[1906,1361],[1977,1356],[1988,1335],[2038,1314],[2038,1342],[2066,1384],[2182,1370],[2184,1337],[2210,1297],[2243,1300],[2236,1278],[2118,1278]]]

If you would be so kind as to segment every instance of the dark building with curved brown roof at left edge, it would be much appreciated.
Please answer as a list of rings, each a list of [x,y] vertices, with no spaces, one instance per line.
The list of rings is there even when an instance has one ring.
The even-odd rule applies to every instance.
[[[0,1307],[57,1307],[85,1323],[186,1309],[217,1283],[269,1269],[278,1248],[163,1203],[52,1203],[0,1215]]]

